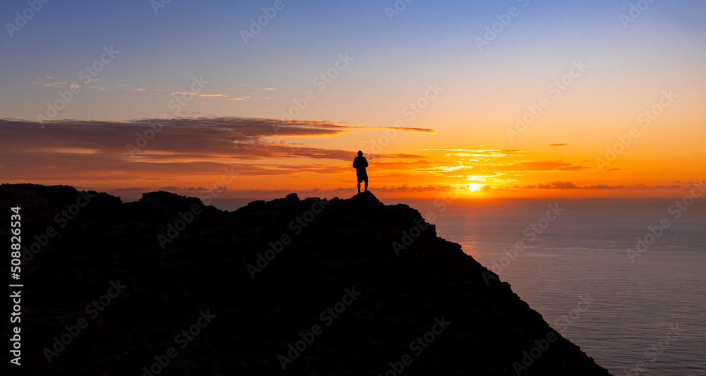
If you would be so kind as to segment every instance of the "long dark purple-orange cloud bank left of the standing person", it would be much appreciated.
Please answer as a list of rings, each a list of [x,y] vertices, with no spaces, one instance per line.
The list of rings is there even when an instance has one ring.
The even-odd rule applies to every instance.
[[[190,174],[203,176],[219,174],[224,166],[235,166],[246,176],[338,174],[349,169],[355,150],[292,144],[284,138],[377,129],[328,121],[177,118],[162,121],[160,132],[155,134],[152,128],[155,121],[158,120],[53,121],[44,123],[41,128],[31,121],[0,119],[0,150],[8,156],[3,162],[13,167],[4,173],[16,174],[16,178],[42,176],[63,180],[68,176],[81,176],[83,180],[95,181],[140,176],[160,176],[164,180]],[[148,131],[155,136],[132,157],[126,145],[136,144],[136,135]],[[408,128],[407,131],[428,130]],[[421,156],[387,153],[369,157],[415,159]],[[325,159],[339,162],[315,162]]]

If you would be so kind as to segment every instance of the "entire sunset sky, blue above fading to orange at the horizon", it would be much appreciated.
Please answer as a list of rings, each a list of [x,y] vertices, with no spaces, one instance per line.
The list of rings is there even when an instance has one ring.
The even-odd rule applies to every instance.
[[[407,1],[3,1],[0,182],[349,197],[358,150],[388,198],[705,178],[705,1]]]

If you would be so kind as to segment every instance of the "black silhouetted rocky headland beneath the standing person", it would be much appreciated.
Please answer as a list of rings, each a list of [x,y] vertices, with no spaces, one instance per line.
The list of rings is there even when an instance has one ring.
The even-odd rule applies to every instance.
[[[164,192],[0,186],[2,216],[15,206],[12,374],[609,375],[417,210],[371,193],[223,212]]]

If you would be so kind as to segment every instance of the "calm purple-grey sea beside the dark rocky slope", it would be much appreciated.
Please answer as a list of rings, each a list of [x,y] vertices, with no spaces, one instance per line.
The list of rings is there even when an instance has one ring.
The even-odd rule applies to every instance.
[[[706,198],[381,201],[419,210],[613,375],[706,375]]]

